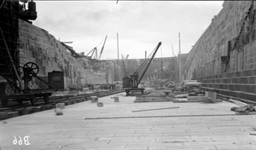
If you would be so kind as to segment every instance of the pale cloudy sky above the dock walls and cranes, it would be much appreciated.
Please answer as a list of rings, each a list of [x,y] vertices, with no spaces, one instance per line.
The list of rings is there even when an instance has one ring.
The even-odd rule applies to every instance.
[[[97,47],[98,54],[108,35],[102,59],[144,58],[157,43],[162,46],[156,57],[171,57],[172,46],[178,52],[178,32],[182,53],[210,25],[222,9],[223,1],[35,1],[38,19],[35,26],[44,28],[62,42],[73,42],[78,53],[86,55]]]

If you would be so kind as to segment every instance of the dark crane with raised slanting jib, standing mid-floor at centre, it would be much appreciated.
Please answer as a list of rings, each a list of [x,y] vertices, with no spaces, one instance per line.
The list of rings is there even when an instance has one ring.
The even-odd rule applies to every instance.
[[[160,48],[160,45],[161,45],[161,42],[157,44],[157,46],[155,47],[155,49],[151,53],[151,54],[153,54],[151,56],[151,58],[149,59],[149,56],[150,56],[149,55],[148,59],[145,59],[145,61],[137,69],[137,71],[131,74],[130,78],[129,77],[123,78],[123,88],[125,89],[126,95],[129,95],[130,91],[141,91],[142,94],[143,94],[144,88],[138,88],[138,85],[142,81],[143,76],[145,75],[145,73],[147,72],[148,66],[150,65],[151,61],[154,59],[154,55],[156,54],[157,50]],[[143,70],[143,68],[144,68],[144,70]],[[142,71],[142,70],[143,70],[143,74],[139,77],[139,72]]]

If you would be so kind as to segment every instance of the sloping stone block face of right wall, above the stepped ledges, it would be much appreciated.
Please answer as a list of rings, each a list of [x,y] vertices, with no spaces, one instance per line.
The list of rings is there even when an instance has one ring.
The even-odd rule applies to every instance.
[[[251,4],[252,2],[250,1],[242,3],[236,1],[224,2],[224,8],[218,15],[213,17],[211,25],[208,26],[206,32],[203,33],[201,38],[195,43],[194,48],[189,52],[187,60],[187,74],[189,78],[193,78],[193,72],[204,77],[212,73],[236,72],[255,67],[254,38],[250,38],[250,43],[244,44],[242,49],[233,49],[234,39],[239,35],[247,10]],[[255,9],[255,6],[253,6],[253,9]],[[253,15],[253,17],[255,16]],[[249,21],[247,20],[246,24],[249,24]],[[250,31],[251,34],[255,32],[254,24],[250,26],[250,29],[247,29],[248,32],[252,30],[252,32]],[[245,40],[247,31],[243,32],[240,40]],[[233,50],[231,50],[230,54],[228,52],[229,41],[233,42],[230,48]],[[229,66],[226,67],[221,58],[228,55],[230,55],[230,61]],[[204,72],[204,74],[199,72]]]

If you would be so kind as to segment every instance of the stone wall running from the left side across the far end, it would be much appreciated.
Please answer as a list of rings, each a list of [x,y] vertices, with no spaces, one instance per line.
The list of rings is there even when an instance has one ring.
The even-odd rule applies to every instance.
[[[98,61],[84,57],[76,59],[67,47],[48,31],[24,20],[19,20],[19,30],[20,66],[27,62],[36,63],[39,66],[38,76],[45,81],[48,81],[48,72],[61,71],[64,72],[65,89],[70,89],[83,88],[88,84],[112,84],[114,81],[121,81],[124,76],[122,60]],[[127,75],[135,72],[143,61],[145,60],[125,61]],[[175,66],[176,57],[155,58],[143,79],[155,74],[169,79],[175,71]],[[36,78],[30,82],[32,89],[47,87]]]

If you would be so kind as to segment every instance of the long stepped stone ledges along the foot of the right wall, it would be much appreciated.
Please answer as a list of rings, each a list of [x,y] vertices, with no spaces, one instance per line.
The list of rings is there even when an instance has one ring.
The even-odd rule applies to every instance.
[[[256,101],[256,68],[193,79],[201,82],[206,91]]]

